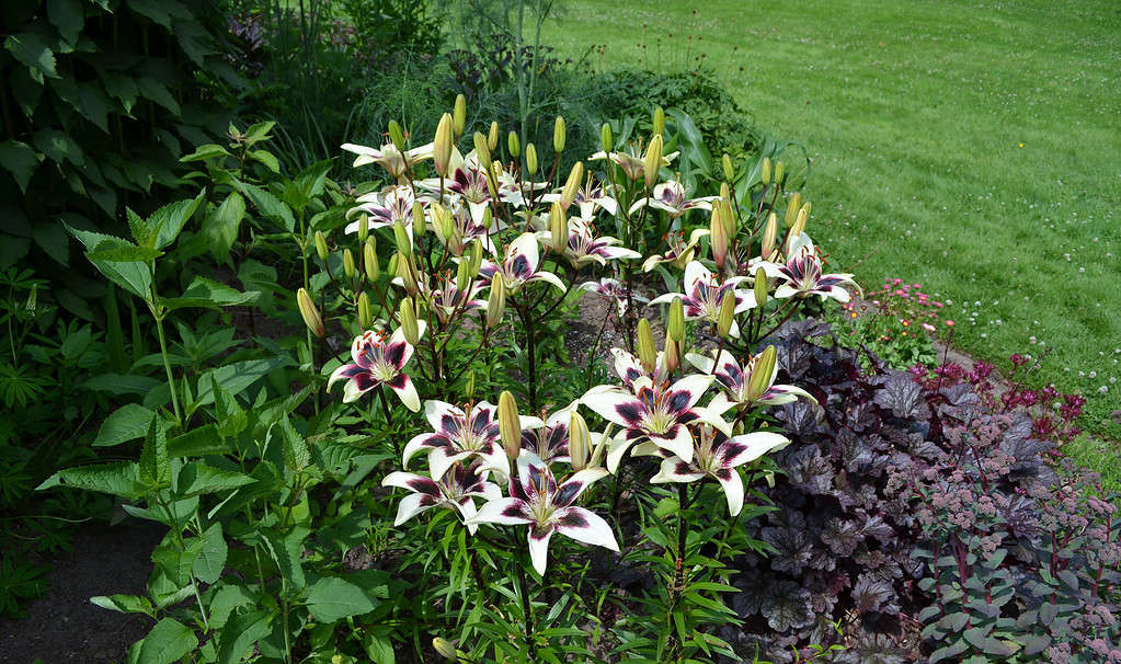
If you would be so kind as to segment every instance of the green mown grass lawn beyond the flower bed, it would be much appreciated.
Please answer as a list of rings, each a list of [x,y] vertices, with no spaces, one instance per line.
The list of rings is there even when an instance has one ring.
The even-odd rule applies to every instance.
[[[604,66],[714,71],[808,148],[808,230],[844,271],[939,294],[1002,368],[1050,351],[1039,382],[1121,439],[1121,4],[583,0],[547,28]]]

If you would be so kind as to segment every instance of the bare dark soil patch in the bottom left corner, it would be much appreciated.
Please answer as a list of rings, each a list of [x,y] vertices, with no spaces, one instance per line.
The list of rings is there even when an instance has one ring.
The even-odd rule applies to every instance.
[[[59,556],[50,590],[27,608],[27,618],[0,619],[0,662],[44,664],[124,662],[151,620],[90,603],[99,594],[145,594],[151,551],[167,528],[155,524],[91,525]]]

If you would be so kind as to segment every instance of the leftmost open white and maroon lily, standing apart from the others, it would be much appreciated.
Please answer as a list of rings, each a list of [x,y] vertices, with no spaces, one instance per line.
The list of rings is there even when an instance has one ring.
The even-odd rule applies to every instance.
[[[425,326],[424,321],[417,321],[421,335]],[[346,380],[343,385],[343,403],[349,404],[379,385],[385,385],[400,397],[409,411],[416,413],[420,409],[416,387],[408,376],[401,374],[401,368],[411,357],[413,345],[405,340],[401,329],[398,328],[388,340],[383,332],[363,332],[351,343],[354,363],[335,369],[327,379],[327,389],[340,380]]]

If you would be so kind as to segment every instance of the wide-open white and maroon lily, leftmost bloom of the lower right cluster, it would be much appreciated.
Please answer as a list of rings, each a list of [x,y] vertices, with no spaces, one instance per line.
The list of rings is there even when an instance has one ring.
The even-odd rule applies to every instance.
[[[633,394],[605,385],[587,390],[581,403],[623,427],[608,450],[608,470],[614,472],[627,448],[643,441],[686,461],[692,460],[689,425],[697,421],[730,432],[728,423],[719,415],[696,405],[711,382],[711,376],[693,375],[663,386],[642,376],[632,384]]]

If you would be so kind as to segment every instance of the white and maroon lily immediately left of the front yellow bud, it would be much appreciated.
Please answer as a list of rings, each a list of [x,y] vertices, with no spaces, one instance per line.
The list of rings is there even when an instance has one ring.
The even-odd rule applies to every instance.
[[[445,402],[425,402],[424,414],[433,432],[417,435],[405,445],[401,465],[407,467],[417,452],[427,450],[428,474],[433,479],[438,480],[452,464],[473,457],[482,459],[483,468],[509,474],[510,464],[502,450],[495,412],[497,408],[487,402],[470,405],[466,412]],[[543,423],[537,417],[522,415],[520,424],[525,431]]]

